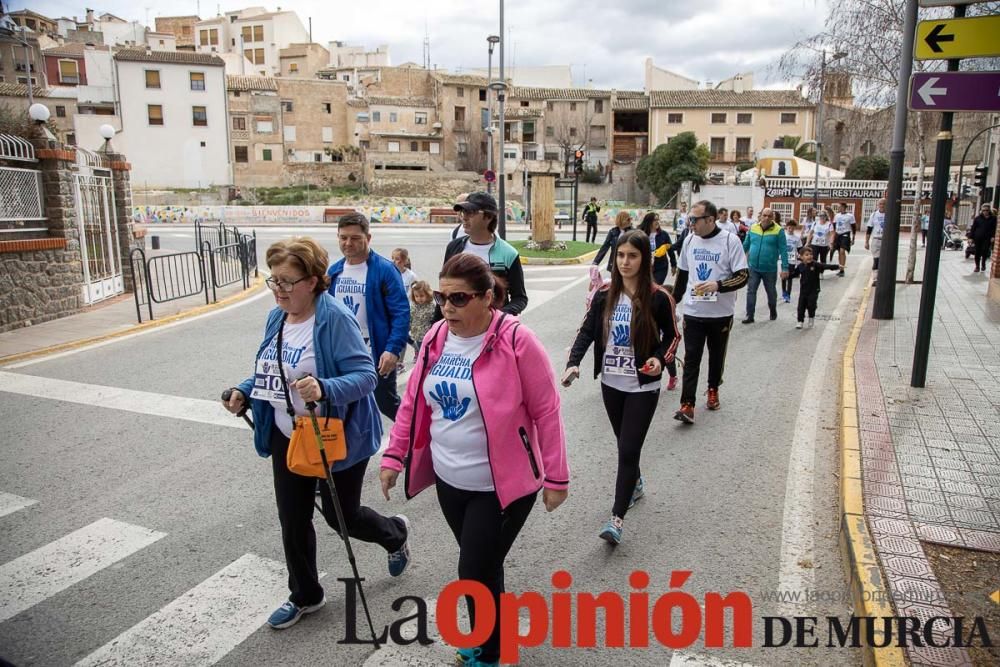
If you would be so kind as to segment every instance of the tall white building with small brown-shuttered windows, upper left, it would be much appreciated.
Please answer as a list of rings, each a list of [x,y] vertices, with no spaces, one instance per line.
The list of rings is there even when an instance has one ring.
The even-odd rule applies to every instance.
[[[114,148],[140,187],[208,188],[233,182],[225,67],[189,51],[115,54],[121,133]]]

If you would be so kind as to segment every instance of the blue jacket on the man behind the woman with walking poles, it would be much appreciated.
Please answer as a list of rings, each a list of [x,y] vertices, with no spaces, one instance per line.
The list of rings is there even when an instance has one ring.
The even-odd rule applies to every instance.
[[[330,276],[330,294],[336,294],[337,281],[344,272],[344,259],[335,262]],[[368,252],[368,278],[365,280],[365,311],[368,313],[368,335],[371,336],[372,359],[376,366],[383,352],[397,357],[410,336],[410,301],[406,298],[399,269],[374,250]]]

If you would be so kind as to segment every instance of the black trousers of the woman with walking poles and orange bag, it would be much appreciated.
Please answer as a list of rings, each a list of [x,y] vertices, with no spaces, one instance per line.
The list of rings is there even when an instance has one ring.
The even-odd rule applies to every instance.
[[[291,591],[288,599],[302,607],[323,599],[323,587],[316,572],[316,531],[312,523],[317,482],[320,485],[323,518],[334,530],[338,530],[337,515],[329,485],[323,480],[304,477],[289,470],[285,463],[287,455],[288,438],[277,427],[272,428],[271,469],[274,471],[274,496],[281,522],[281,543],[288,566],[288,589]],[[361,486],[365,481],[366,467],[368,459],[362,459],[350,468],[333,473],[347,533],[362,542],[379,544],[386,551],[396,551],[406,541],[406,527],[401,519],[382,516],[361,505]]]

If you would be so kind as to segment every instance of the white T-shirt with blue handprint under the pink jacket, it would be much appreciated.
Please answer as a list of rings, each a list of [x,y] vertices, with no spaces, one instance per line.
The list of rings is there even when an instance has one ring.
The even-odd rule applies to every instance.
[[[479,358],[485,338],[485,333],[472,338],[449,333],[441,358],[422,387],[431,408],[434,473],[465,491],[493,491],[486,423],[472,386],[472,364]]]

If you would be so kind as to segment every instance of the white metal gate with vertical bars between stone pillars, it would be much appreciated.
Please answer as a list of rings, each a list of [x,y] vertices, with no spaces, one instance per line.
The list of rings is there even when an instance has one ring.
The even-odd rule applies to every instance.
[[[76,218],[83,260],[83,298],[97,303],[125,291],[122,279],[118,219],[111,170],[101,158],[77,148]]]

